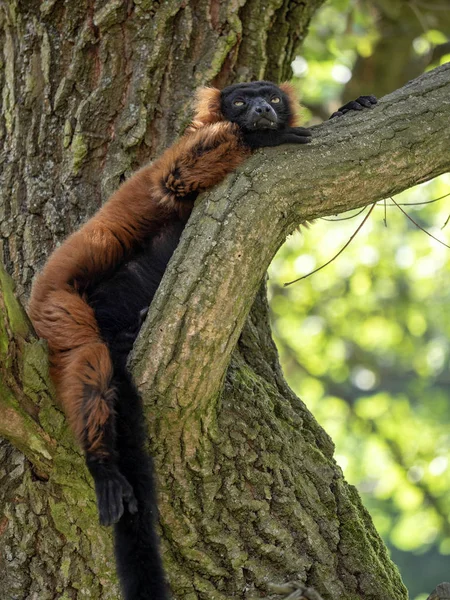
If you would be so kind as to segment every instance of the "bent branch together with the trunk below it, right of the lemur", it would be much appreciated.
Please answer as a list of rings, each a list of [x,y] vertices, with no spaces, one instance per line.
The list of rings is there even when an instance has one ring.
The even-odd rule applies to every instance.
[[[234,349],[268,265],[299,223],[372,204],[448,170],[449,97],[450,65],[371,111],[315,128],[306,147],[257,152],[197,203],[132,357],[156,471],[164,474],[161,525],[177,532],[164,543],[171,567],[180,568],[179,556],[214,563],[211,547],[222,534],[228,539],[230,531],[241,531],[242,520],[256,519],[271,534],[258,537],[251,528],[251,541],[239,548],[251,549],[260,569],[257,587],[295,572],[324,596],[407,597],[370,517],[333,462],[331,441],[277,375],[276,357],[269,351],[255,367],[255,355],[247,362],[248,335]],[[246,330],[253,324],[261,343],[258,318],[252,311]],[[292,488],[278,477],[267,496],[264,478],[278,472],[293,474]],[[315,503],[306,491],[311,487]],[[285,497],[288,504],[291,498],[292,513],[308,514],[308,525],[300,518],[280,528],[276,502],[261,505],[266,497]],[[206,525],[198,529],[197,516],[202,523],[219,520],[221,535]],[[290,533],[272,537],[274,531]],[[313,549],[297,545],[297,535],[313,536]],[[268,540],[283,549],[281,570],[268,567],[273,576],[261,567],[259,548]],[[239,567],[230,564],[238,578]]]

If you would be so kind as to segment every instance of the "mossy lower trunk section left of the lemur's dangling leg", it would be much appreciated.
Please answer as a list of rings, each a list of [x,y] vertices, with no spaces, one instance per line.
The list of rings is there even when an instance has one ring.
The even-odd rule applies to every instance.
[[[46,346],[1,264],[0,436],[0,597],[117,598],[110,535],[55,405]]]

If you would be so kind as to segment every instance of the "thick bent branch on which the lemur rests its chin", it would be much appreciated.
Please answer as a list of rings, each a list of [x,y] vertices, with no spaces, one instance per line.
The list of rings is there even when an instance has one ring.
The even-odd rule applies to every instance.
[[[447,64],[372,110],[315,127],[307,146],[258,151],[200,198],[134,355],[146,401],[164,398],[162,422],[173,426],[174,411],[180,423],[208,413],[286,236],[305,220],[371,204],[448,171],[449,130]]]

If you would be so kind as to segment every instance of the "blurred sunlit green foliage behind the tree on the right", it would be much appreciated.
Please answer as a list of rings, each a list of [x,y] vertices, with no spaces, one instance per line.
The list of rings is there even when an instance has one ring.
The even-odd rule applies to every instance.
[[[403,39],[395,31],[408,27],[402,11],[410,4],[417,35]],[[389,72],[390,64],[376,64],[392,41],[386,20],[389,35],[407,44],[400,74],[450,60],[450,16],[422,12],[423,4],[393,0],[387,12],[381,1],[325,5],[294,63],[313,122],[347,100],[357,79],[362,86],[370,79],[365,69]],[[374,84],[359,93],[378,94]],[[450,246],[449,174],[395,201]],[[423,600],[450,580],[450,248],[386,199],[334,262],[284,287],[334,256],[364,214],[337,218],[302,228],[273,262],[276,341],[290,384],[335,441],[337,461],[361,492],[411,598]]]

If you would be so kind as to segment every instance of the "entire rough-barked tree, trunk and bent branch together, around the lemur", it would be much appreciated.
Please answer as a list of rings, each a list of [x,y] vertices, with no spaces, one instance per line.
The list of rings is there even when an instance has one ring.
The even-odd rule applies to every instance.
[[[194,86],[214,77],[227,83],[284,76],[296,37],[318,4],[277,1],[261,11],[260,3],[250,2],[236,12],[231,4],[141,2],[127,8],[103,2],[83,12],[62,2],[40,8],[9,3],[3,14],[2,135],[9,154],[3,157],[1,232],[18,295],[26,295],[32,271],[55,240],[92,212],[121,175],[181,130]],[[295,11],[299,20],[287,19]],[[200,15],[205,31],[197,35]],[[179,37],[186,36],[186,23],[192,25],[188,41]],[[239,27],[236,48],[219,52]],[[72,36],[67,53],[61,30]],[[267,31],[276,33],[284,55]],[[67,59],[64,68],[55,63],[58,48]],[[172,73],[167,80],[164,61]],[[439,95],[448,98],[448,70],[432,77],[387,100],[378,113],[323,127],[302,153],[304,172],[294,169],[298,149],[258,153],[195,210],[149,315],[134,369],[149,409],[165,561],[177,598],[259,595],[269,580],[290,576],[325,598],[406,597],[370,517],[332,460],[332,442],[282,378],[262,291],[246,315],[271,255],[297,223],[361,206],[448,168],[448,141],[440,139],[438,127],[448,123],[448,104]],[[27,90],[35,96],[25,106]],[[158,103],[168,104],[172,96],[174,108],[158,112]],[[409,112],[408,96],[415,99]],[[362,173],[368,156],[374,162]],[[383,170],[386,157],[398,162]],[[399,165],[401,177],[387,190]],[[308,180],[313,172],[317,182],[328,184]],[[304,188],[302,173],[309,181]],[[356,178],[370,181],[364,198],[352,194]],[[274,180],[277,190],[269,194]],[[109,533],[96,525],[91,482],[47,393],[42,347],[3,274],[1,285],[0,410],[6,407],[12,416],[0,433],[26,453],[34,470],[11,446],[2,446],[0,593],[13,599],[117,598]],[[158,337],[160,325],[165,333]],[[34,362],[22,361],[28,347],[35,348]],[[33,384],[19,385],[30,365],[37,383],[32,378]]]

